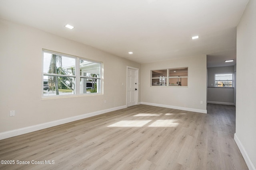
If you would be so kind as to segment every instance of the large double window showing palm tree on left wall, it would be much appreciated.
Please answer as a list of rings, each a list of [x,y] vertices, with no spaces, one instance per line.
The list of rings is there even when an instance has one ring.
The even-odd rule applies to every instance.
[[[101,92],[102,63],[43,51],[43,96]]]

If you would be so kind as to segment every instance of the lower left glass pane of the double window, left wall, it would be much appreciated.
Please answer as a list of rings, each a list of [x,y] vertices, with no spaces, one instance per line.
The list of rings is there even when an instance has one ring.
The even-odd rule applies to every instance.
[[[44,96],[75,94],[75,78],[66,76],[44,76]]]

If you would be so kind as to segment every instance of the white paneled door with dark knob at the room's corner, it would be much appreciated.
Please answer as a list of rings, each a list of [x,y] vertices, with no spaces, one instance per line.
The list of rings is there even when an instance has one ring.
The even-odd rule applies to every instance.
[[[138,69],[127,68],[127,107],[138,104]]]

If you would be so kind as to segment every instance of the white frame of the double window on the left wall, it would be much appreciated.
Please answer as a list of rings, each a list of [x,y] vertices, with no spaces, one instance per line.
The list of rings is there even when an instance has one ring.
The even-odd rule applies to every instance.
[[[63,77],[72,77],[75,78],[75,92],[74,94],[61,94],[61,95],[44,95],[44,76],[62,76],[62,74],[51,74],[51,73],[44,73],[44,52],[45,53],[51,53],[51,54],[55,54],[55,55],[61,55],[64,57],[69,57],[69,58],[73,58],[75,59],[75,75],[63,75]],[[98,63],[100,64],[100,75],[99,77],[90,77],[90,76],[80,76],[80,59],[83,61],[89,61],[89,62],[93,62],[93,63]],[[85,58],[81,58],[81,57],[76,57],[76,56],[72,56],[72,55],[66,55],[63,53],[58,53],[58,52],[53,52],[50,50],[46,50],[46,49],[42,49],[42,85],[41,85],[41,89],[42,89],[42,98],[63,98],[63,97],[74,97],[74,96],[92,96],[92,95],[102,95],[103,94],[103,75],[102,75],[102,69],[103,69],[103,63],[102,62],[98,62],[98,61],[92,61],[89,59],[85,59]],[[95,93],[82,93],[80,94],[80,78],[90,78],[90,79],[96,79],[97,80],[97,86],[99,86],[97,88],[97,92]]]

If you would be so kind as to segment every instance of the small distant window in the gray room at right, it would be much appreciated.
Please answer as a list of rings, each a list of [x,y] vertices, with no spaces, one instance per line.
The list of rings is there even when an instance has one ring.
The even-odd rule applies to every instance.
[[[215,87],[233,87],[233,74],[215,74]]]

